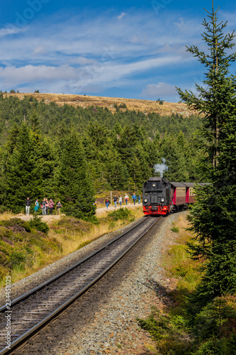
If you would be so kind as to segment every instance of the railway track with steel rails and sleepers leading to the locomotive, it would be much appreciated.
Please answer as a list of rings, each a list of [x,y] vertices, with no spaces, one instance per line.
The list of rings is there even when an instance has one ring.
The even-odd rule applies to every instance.
[[[99,281],[142,239],[159,218],[146,217],[87,258],[0,308],[0,354],[11,354]],[[6,347],[7,315],[11,318],[11,349]]]

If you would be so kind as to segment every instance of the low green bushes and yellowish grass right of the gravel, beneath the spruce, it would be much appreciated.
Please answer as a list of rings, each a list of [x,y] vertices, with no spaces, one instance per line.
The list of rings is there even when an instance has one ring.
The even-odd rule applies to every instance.
[[[163,260],[167,276],[177,279],[175,290],[168,293],[174,302],[162,310],[152,307],[146,320],[137,321],[152,335],[157,354],[236,354],[236,295],[216,297],[205,307],[198,305],[194,295],[204,261],[190,258],[186,242],[192,236],[186,227],[186,220],[179,217],[172,228],[174,232],[179,229],[176,244]]]

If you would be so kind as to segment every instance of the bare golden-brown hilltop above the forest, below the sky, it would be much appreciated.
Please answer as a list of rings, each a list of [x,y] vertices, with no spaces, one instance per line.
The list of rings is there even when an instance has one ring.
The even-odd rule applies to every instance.
[[[116,105],[125,104],[127,109],[142,111],[147,114],[150,112],[156,112],[162,116],[171,114],[181,114],[186,117],[189,116],[192,111],[187,109],[186,104],[179,102],[159,102],[151,100],[142,99],[124,99],[123,97],[99,97],[99,96],[89,96],[89,95],[77,95],[77,94],[40,94],[40,93],[11,93],[4,94],[4,97],[16,96],[19,99],[23,97],[34,97],[38,101],[44,100],[46,104],[50,102],[55,102],[59,106],[64,104],[72,105],[74,107],[83,107],[86,109],[91,106],[107,107],[112,112],[116,111]],[[120,109],[125,110],[125,109]]]

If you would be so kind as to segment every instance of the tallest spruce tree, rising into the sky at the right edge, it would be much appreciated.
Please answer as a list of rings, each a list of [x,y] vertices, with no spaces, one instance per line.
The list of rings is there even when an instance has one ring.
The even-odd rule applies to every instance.
[[[203,21],[206,31],[202,35],[208,53],[196,46],[187,48],[206,67],[204,86],[196,85],[198,97],[178,89],[181,100],[204,115],[208,158],[204,164],[211,184],[196,188],[198,199],[190,214],[198,241],[190,246],[193,257],[206,260],[197,290],[203,303],[236,291],[236,77],[229,72],[236,54],[227,54],[234,45],[234,33],[223,34],[227,23],[218,22],[213,8],[208,18],[209,22]]]

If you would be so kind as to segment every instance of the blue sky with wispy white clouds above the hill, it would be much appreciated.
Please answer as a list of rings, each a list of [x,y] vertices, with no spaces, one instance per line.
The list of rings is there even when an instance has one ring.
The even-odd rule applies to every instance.
[[[214,5],[228,21],[226,32],[236,29],[235,1]],[[177,102],[175,86],[194,92],[203,80],[204,67],[185,45],[204,48],[203,8],[211,6],[209,0],[4,1],[0,89]]]

